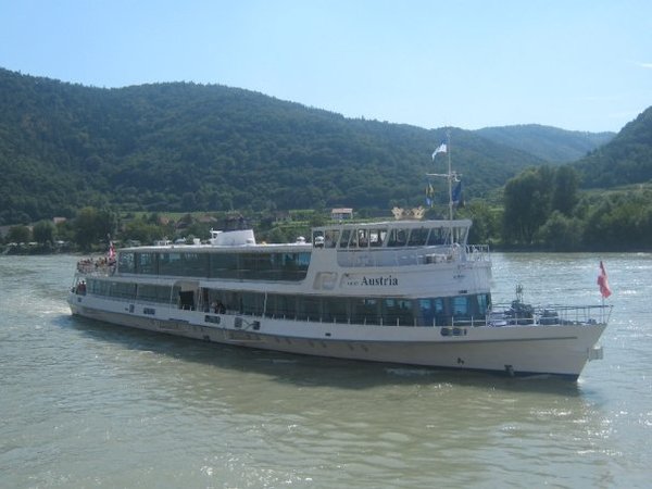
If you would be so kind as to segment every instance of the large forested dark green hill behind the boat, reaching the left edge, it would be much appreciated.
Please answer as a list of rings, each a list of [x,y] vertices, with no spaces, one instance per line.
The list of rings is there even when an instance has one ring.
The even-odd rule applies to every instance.
[[[101,89],[0,70],[0,224],[84,205],[196,211],[424,200],[444,129],[364,120],[195,84]],[[542,161],[451,129],[465,197]],[[443,192],[440,192],[443,199]]]

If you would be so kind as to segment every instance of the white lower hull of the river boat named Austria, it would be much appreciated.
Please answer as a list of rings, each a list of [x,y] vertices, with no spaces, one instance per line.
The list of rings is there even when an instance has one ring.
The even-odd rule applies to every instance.
[[[120,326],[336,359],[577,379],[604,324],[409,327],[210,314],[71,294],[71,311]]]

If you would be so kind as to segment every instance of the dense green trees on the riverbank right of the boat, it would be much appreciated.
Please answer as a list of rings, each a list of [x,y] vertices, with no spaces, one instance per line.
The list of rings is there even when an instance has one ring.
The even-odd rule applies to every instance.
[[[500,205],[473,202],[472,238],[500,249],[638,251],[652,243],[652,186],[579,188],[569,165],[529,168],[507,180]]]

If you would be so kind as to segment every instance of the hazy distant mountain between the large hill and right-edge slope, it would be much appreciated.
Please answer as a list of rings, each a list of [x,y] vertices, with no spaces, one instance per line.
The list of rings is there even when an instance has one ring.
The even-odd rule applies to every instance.
[[[567,163],[612,140],[615,133],[584,133],[527,124],[475,130],[493,142],[516,148],[550,163]]]

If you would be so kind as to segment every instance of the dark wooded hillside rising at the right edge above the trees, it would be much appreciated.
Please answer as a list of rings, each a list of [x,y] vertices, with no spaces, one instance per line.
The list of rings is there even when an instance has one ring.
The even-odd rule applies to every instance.
[[[652,106],[575,166],[589,188],[652,183]]]

